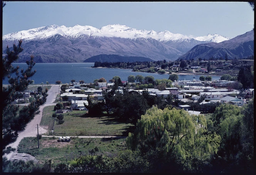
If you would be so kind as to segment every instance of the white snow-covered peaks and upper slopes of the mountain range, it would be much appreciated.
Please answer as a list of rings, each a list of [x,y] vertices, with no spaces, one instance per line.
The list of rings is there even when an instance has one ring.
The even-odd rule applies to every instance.
[[[207,36],[203,37],[188,37],[179,33],[171,33],[167,30],[165,30],[164,32],[155,32],[153,30],[137,30],[135,28],[130,28],[126,25],[115,24],[107,25],[101,27],[100,29],[88,25],[75,25],[74,27],[66,27],[64,25],[59,27],[57,25],[50,25],[46,27],[33,28],[29,30],[22,30],[20,32],[10,33],[4,35],[3,40],[42,40],[56,34],[62,35],[67,38],[78,38],[83,35],[89,35],[93,37],[119,37],[128,39],[153,38],[160,42],[168,42],[170,40],[190,40],[193,38],[198,41],[219,43],[231,39],[223,37],[216,33],[208,34]]]

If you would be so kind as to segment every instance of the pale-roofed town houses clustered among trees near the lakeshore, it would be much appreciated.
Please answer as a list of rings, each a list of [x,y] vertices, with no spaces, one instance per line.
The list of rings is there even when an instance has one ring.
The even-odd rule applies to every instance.
[[[167,98],[168,95],[173,96],[173,100],[179,100],[181,103],[197,102],[199,98],[204,97],[204,100],[199,104],[205,103],[230,103],[232,105],[243,106],[254,96],[254,89],[249,88],[244,91],[230,89],[227,87],[229,83],[235,81],[220,80],[215,82],[187,81],[180,80],[173,82],[173,87],[166,90],[158,90],[157,88],[147,88],[149,95]],[[124,86],[130,87],[136,83],[122,82]],[[107,88],[111,88],[115,83],[98,82],[97,89],[89,88],[90,83],[80,84],[74,82],[65,89],[65,92],[60,95],[60,102],[71,102],[72,110],[87,110],[84,103],[88,105],[87,97],[91,96],[93,101],[104,100],[102,92]],[[206,86],[205,86],[206,84]],[[178,88],[180,87],[180,88]],[[118,92],[122,93],[124,87],[118,87]],[[129,88],[128,92],[136,92],[142,94],[144,90],[135,90]],[[82,93],[81,93],[82,92]],[[179,105],[177,108],[192,110],[189,105]],[[200,113],[200,112],[199,112]]]

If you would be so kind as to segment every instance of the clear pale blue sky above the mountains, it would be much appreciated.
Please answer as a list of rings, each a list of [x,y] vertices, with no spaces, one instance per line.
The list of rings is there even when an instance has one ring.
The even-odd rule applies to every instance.
[[[3,35],[56,24],[101,28],[121,24],[187,36],[234,38],[254,28],[247,2],[6,2]]]

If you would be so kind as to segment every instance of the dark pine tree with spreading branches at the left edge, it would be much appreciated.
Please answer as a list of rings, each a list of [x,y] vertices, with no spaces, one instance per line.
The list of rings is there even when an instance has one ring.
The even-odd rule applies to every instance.
[[[2,112],[2,146],[3,149],[16,140],[18,131],[24,130],[27,123],[34,118],[39,106],[46,101],[47,89],[41,95],[35,95],[34,100],[29,105],[19,110],[13,102],[24,95],[23,92],[32,82],[30,78],[36,70],[32,70],[35,65],[34,56],[27,60],[27,69],[19,70],[19,66],[13,67],[12,63],[17,61],[19,53],[22,52],[22,40],[19,44],[13,44],[13,50],[7,46],[6,55],[2,58],[2,80],[8,78],[8,86],[4,86],[1,92],[1,112]]]

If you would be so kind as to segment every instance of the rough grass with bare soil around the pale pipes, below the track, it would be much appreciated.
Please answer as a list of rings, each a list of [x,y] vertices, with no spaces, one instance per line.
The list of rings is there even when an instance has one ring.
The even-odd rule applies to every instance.
[[[126,149],[125,138],[71,138],[70,142],[57,142],[54,137],[42,137],[37,148],[36,137],[25,137],[21,140],[18,152],[34,156],[40,163],[53,160],[54,164],[68,162],[83,155],[95,147],[99,149],[95,154],[115,157],[120,150]]]

